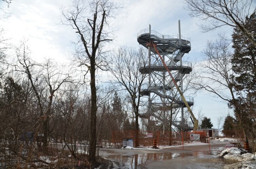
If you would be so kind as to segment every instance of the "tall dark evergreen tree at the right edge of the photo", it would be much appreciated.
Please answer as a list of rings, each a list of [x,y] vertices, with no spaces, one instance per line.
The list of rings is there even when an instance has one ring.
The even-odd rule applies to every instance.
[[[254,36],[256,34],[256,13],[245,18],[245,27]],[[256,47],[248,40],[244,33],[238,28],[234,28],[232,34],[234,55],[231,63],[235,78],[234,88],[238,97],[231,107],[234,108],[234,115],[237,120],[237,127],[243,129],[245,135],[256,137],[253,128],[255,125],[255,103],[256,103]],[[251,136],[250,136],[251,137]]]

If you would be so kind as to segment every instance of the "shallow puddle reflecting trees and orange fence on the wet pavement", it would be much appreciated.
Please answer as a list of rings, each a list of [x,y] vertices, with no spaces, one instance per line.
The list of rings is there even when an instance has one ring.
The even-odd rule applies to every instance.
[[[129,168],[143,168],[148,161],[163,161],[175,158],[194,157],[194,158],[209,158],[211,153],[207,152],[191,152],[191,153],[144,153],[136,155],[109,155],[108,159],[122,161]],[[212,158],[212,157],[211,157]]]

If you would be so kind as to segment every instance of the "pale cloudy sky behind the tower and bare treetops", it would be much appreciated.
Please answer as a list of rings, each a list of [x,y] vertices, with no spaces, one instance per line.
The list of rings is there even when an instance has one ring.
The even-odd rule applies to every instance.
[[[0,20],[5,31],[4,36],[14,45],[18,45],[23,39],[29,40],[32,58],[37,61],[53,58],[65,62],[74,50],[71,42],[76,39],[75,31],[71,27],[60,24],[60,8],[67,7],[69,3],[69,0],[13,0],[7,8],[0,1],[0,6],[11,13],[9,18]],[[116,19],[112,23],[113,29],[117,31],[110,48],[123,45],[138,47],[137,33],[148,28],[149,24],[152,30],[161,34],[177,35],[178,20],[181,20],[181,34],[190,37],[192,46],[184,59],[199,62],[203,59],[201,52],[207,40],[215,40],[219,33],[230,36],[229,27],[202,33],[197,24],[204,21],[191,18],[184,9],[185,4],[180,0],[119,0],[117,3],[122,8],[117,11]],[[194,101],[194,114],[202,108],[203,114],[212,119],[216,128],[217,117],[228,112],[225,103],[207,92],[197,93]]]

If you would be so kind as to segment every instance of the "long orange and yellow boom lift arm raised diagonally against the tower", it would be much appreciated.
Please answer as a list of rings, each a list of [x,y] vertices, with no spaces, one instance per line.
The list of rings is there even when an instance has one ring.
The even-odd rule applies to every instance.
[[[180,90],[179,86],[177,85],[176,81],[174,80],[174,78],[173,78],[173,76],[172,76],[172,74],[171,74],[169,68],[167,67],[167,65],[165,64],[165,62],[164,62],[163,58],[161,57],[159,51],[157,50],[156,44],[155,44],[154,42],[147,42],[147,46],[154,47],[155,51],[157,52],[159,58],[161,59],[161,61],[162,61],[162,63],[163,63],[165,69],[167,70],[167,72],[168,72],[169,75],[171,76],[172,81],[174,82],[174,84],[175,84],[175,86],[176,86],[178,92],[179,92],[180,95],[181,95],[182,101],[183,101],[184,104],[186,105],[187,110],[188,110],[190,116],[191,116],[192,119],[193,119],[193,120],[191,119],[191,120],[192,120],[192,123],[193,123],[193,125],[194,125],[193,131],[196,131],[196,130],[199,128],[199,126],[198,126],[198,120],[197,120],[196,117],[194,116],[194,114],[193,114],[192,110],[190,109],[190,107],[189,107],[189,105],[188,105],[188,103],[187,103],[185,97],[183,96],[183,93],[181,92],[181,90]],[[194,121],[194,122],[193,122],[193,121]]]

